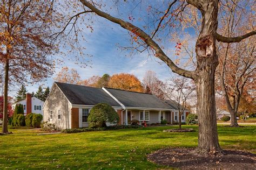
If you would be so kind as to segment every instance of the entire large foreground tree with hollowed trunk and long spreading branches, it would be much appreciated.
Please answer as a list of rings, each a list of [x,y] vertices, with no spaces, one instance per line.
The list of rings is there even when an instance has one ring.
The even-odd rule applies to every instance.
[[[80,5],[78,5],[80,2]],[[93,14],[105,18],[109,22],[115,23],[122,27],[123,29],[129,31],[129,35],[132,41],[133,49],[139,52],[149,52],[160,59],[167,66],[170,67],[172,72],[177,73],[181,76],[187,77],[194,80],[197,87],[197,112],[198,112],[198,124],[199,124],[199,134],[198,134],[198,147],[195,152],[199,154],[216,154],[221,153],[221,147],[218,142],[217,133],[217,121],[216,121],[216,109],[215,109],[215,70],[219,64],[217,55],[217,41],[225,43],[239,42],[250,36],[256,34],[256,31],[247,29],[245,34],[238,34],[237,37],[223,36],[217,33],[218,21],[221,13],[219,12],[219,7],[225,5],[225,2],[218,0],[187,0],[187,1],[172,1],[172,2],[149,2],[146,4],[146,10],[150,11],[149,15],[141,16],[138,18],[138,22],[134,17],[131,17],[133,12],[137,12],[136,9],[142,8],[143,2],[140,1],[141,5],[135,1],[115,1],[117,5],[123,5],[124,3],[129,3],[134,6],[132,11],[129,13],[130,17],[119,16],[116,17],[110,12],[113,6],[108,6],[102,1],[86,1],[80,0],[73,6],[78,11],[74,17],[71,17],[69,23],[77,26],[75,23],[79,17],[89,16],[93,18]],[[109,1],[108,1],[109,2]],[[238,6],[244,6],[246,2],[234,2],[228,1],[229,4],[235,4]],[[140,6],[136,8],[137,6]],[[188,8],[189,6],[189,8]],[[145,7],[145,5],[143,6]],[[68,8],[71,8],[68,6]],[[197,18],[188,17],[188,20],[183,20],[183,14],[189,16],[193,11],[198,13]],[[139,9],[140,11],[142,9]],[[252,10],[250,8],[243,8],[241,10]],[[220,11],[221,12],[221,11]],[[151,15],[152,14],[152,15]],[[84,22],[82,17],[82,23]],[[90,19],[89,19],[90,20]],[[140,21],[148,21],[146,24],[142,24]],[[187,70],[179,67],[171,59],[171,55],[167,54],[164,50],[165,41],[161,39],[166,39],[173,33],[172,30],[177,31],[180,26],[183,32],[184,29],[190,27],[191,22],[196,23],[199,27],[199,32],[195,45],[195,60],[196,68]],[[140,22],[140,23],[139,23]],[[184,24],[187,22],[186,24]],[[66,27],[63,28],[63,31]],[[191,27],[190,27],[191,28]],[[193,29],[193,28],[192,28]],[[68,30],[66,30],[68,32]],[[76,30],[77,31],[77,30]],[[69,31],[70,32],[70,31]],[[77,33],[77,32],[75,32]],[[178,42],[179,44],[180,42]],[[127,48],[131,49],[131,48]],[[179,51],[177,50],[179,53]],[[168,56],[169,55],[169,56]]]

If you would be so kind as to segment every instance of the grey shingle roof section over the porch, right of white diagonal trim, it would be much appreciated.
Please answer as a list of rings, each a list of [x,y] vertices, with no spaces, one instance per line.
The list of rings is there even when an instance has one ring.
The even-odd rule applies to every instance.
[[[171,109],[169,105],[151,94],[112,88],[105,89],[109,91],[109,93],[114,97],[116,97],[119,102],[124,104],[125,107]]]

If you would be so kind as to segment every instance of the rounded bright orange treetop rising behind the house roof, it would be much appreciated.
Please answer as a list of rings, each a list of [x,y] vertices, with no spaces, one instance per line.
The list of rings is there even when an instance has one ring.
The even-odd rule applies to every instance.
[[[143,92],[142,83],[133,74],[120,73],[113,74],[109,80],[110,88],[128,91]]]

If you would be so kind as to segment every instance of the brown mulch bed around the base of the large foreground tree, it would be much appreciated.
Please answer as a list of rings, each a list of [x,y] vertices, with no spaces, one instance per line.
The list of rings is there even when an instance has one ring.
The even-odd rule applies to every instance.
[[[147,155],[159,165],[180,169],[256,169],[256,154],[225,150],[224,155],[204,157],[196,155],[194,148],[164,148]]]

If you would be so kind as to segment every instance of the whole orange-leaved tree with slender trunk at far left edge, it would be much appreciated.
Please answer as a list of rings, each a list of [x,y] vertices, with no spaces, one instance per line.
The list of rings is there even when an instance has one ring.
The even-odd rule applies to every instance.
[[[2,132],[8,132],[8,84],[35,83],[52,74],[55,51],[51,35],[59,17],[53,1],[0,1],[0,64],[4,66]]]

